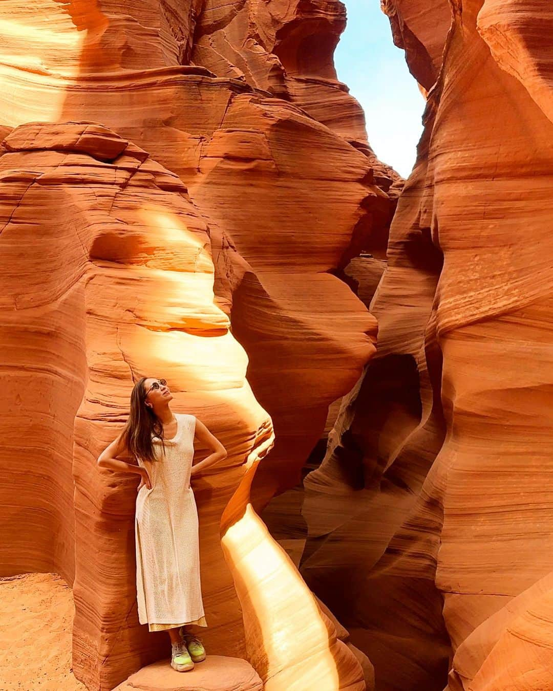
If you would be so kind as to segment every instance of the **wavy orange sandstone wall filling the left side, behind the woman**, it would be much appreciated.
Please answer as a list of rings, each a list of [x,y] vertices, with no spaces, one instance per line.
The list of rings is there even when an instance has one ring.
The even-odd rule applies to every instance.
[[[323,9],[332,17],[308,33],[324,26],[330,64],[343,8]],[[0,561],[73,585],[73,670],[89,688],[167,656],[166,636],[147,634],[135,611],[135,480],[95,466],[133,380],[165,375],[176,409],[229,451],[196,485],[207,646],[247,656],[268,689],[361,690],[370,663],[337,636],[252,504],[296,484],[328,404],[375,352],[374,317],[334,274],[386,233],[397,175],[375,161],[332,79],[315,86],[345,104],[335,129],[269,81],[261,91],[199,65],[196,36],[199,46],[210,16],[214,32],[225,24],[218,12],[153,0],[124,12],[109,1],[0,8],[13,535]],[[298,26],[310,21],[297,12]],[[303,55],[290,46],[283,54]]]

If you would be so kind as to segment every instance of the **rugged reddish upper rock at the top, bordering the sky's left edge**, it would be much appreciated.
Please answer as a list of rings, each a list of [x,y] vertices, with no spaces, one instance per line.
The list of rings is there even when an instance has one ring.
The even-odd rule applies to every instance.
[[[191,60],[290,100],[346,139],[366,141],[362,108],[332,61],[345,26],[339,1],[206,0]]]

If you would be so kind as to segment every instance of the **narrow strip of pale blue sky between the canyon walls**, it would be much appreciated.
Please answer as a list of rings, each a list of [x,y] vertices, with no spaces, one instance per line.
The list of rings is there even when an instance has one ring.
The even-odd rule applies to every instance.
[[[365,111],[368,142],[380,160],[406,178],[422,134],[424,98],[396,48],[379,0],[343,0],[346,30],[335,50],[338,79]]]

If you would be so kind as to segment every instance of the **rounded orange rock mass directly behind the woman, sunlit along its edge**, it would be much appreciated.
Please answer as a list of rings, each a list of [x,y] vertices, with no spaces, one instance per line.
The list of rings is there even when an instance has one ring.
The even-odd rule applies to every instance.
[[[264,670],[265,685],[282,688],[283,653],[279,646],[269,654],[268,641],[256,641],[248,632],[245,639],[237,634],[241,615],[233,578],[247,584],[250,591],[261,579],[259,568],[243,574],[244,564],[254,551],[259,518],[253,513],[245,515],[247,494],[243,491],[238,491],[230,503],[229,499],[247,468],[249,476],[254,475],[274,434],[270,418],[245,380],[245,352],[230,335],[227,314],[214,304],[214,267],[205,221],[174,173],[104,126],[31,124],[15,129],[3,146],[3,331],[20,344],[22,376],[28,378],[35,370],[44,378],[42,388],[38,383],[26,386],[29,392],[36,390],[38,399],[21,399],[20,405],[30,419],[45,419],[43,437],[52,439],[50,444],[56,444],[63,462],[71,459],[71,443],[75,444],[75,579],[71,573],[71,532],[59,533],[57,544],[62,551],[50,555],[50,563],[73,583],[75,674],[92,687],[113,688],[123,670],[136,668],[139,660],[143,663],[160,654],[165,656],[165,640],[158,637],[158,645],[152,646],[152,637],[140,630],[136,621],[132,540],[135,482],[108,471],[99,473],[95,464],[101,448],[115,435],[114,427],[119,428],[124,420],[132,380],[141,372],[162,368],[176,392],[176,405],[195,410],[229,450],[224,467],[212,469],[196,483],[202,523],[203,592],[207,616],[213,621],[206,634],[207,645],[239,656],[246,652],[246,643],[250,658],[255,654],[263,659],[272,657],[277,669]],[[37,214],[37,209],[45,209],[44,214]],[[63,214],[58,212],[61,209]],[[21,259],[17,263],[21,247],[32,247],[23,255],[25,263]],[[15,265],[17,274],[9,270]],[[22,348],[29,330],[44,332],[46,337],[59,333],[61,342],[67,343],[66,352],[51,350],[50,341],[44,337],[32,348],[30,343]],[[186,352],[185,358],[181,352]],[[64,398],[61,389],[51,399],[44,397],[51,371],[57,372],[61,386],[73,375],[78,397]],[[17,378],[12,379],[13,385],[21,388],[17,382]],[[207,393],[209,390],[213,393]],[[216,414],[211,422],[214,413],[209,410]],[[66,432],[65,446],[53,441],[55,430],[48,423],[56,418]],[[5,438],[15,448],[21,428],[13,433],[16,436],[10,439],[6,430]],[[32,428],[28,435],[32,435]],[[60,472],[55,455],[48,454],[45,464],[42,448],[39,446],[35,462],[39,472],[49,477],[47,486],[53,491],[59,486],[60,496],[67,492],[72,498],[71,473]],[[28,486],[30,491],[28,496],[19,495],[20,515],[27,506],[37,505],[32,491],[37,483],[36,478],[24,476],[21,484],[17,475],[15,482],[19,482],[18,489]],[[242,484],[247,492],[250,480]],[[42,499],[46,515],[53,514],[50,530],[59,524],[69,531],[73,505],[56,502],[54,496]],[[223,535],[233,529],[241,536],[234,547],[226,538],[228,562],[236,559],[237,550],[245,550],[241,563],[233,565],[231,571],[224,566],[219,538],[219,520],[227,504],[231,518],[223,526]],[[50,530],[47,524],[43,526],[44,542],[24,531],[19,547],[30,567],[33,559],[48,551]],[[269,549],[270,542],[265,531],[264,550]],[[17,555],[12,560],[12,568],[18,568]],[[281,562],[288,564],[288,557],[277,549],[271,560],[265,557],[263,562],[274,569]],[[327,652],[324,648],[318,652],[326,660],[319,664],[321,679],[337,674],[337,679],[344,679],[340,688],[363,688],[359,663],[336,640],[335,630],[319,612],[297,571],[288,566],[283,574],[286,578],[283,575],[279,583],[281,587],[285,584],[287,607],[297,608],[303,601],[309,609],[301,620],[286,617],[283,623],[272,618],[272,625],[278,625],[279,632],[288,628],[293,640],[306,624],[317,626],[319,622],[317,631],[302,638],[308,650],[321,636],[324,641],[330,639]],[[274,596],[265,585],[261,591],[264,598]],[[243,595],[242,600],[246,621],[248,612],[259,616],[256,612],[261,604],[252,607]],[[216,604],[221,601],[224,607]],[[271,602],[269,598],[263,605],[264,611],[270,609]],[[267,625],[269,622],[263,621],[261,628]],[[97,651],[97,656],[91,651]],[[294,679],[301,678],[301,663],[300,668],[292,668]],[[306,673],[312,678],[313,670],[306,668]]]

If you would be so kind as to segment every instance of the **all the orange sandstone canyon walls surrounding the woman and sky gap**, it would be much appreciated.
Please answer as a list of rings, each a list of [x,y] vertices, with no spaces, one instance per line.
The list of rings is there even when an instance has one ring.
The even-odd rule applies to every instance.
[[[229,451],[194,488],[209,650],[271,691],[553,685],[553,15],[382,8],[428,98],[389,243],[341,3],[0,7],[0,564],[72,585],[88,688],[167,656],[137,481],[95,466],[143,374]],[[258,514],[340,397],[302,580]]]

